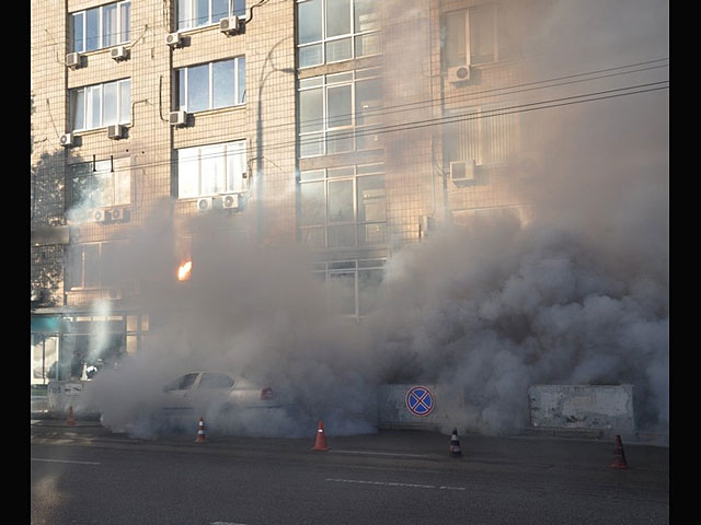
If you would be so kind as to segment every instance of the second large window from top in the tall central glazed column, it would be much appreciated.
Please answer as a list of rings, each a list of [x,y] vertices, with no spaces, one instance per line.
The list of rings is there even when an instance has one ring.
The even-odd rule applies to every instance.
[[[300,156],[381,148],[379,75],[375,68],[300,80]]]

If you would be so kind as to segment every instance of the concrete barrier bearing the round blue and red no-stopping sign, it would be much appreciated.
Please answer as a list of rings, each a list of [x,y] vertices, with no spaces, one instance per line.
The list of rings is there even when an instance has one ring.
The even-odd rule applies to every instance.
[[[464,392],[446,385],[405,384],[378,387],[381,429],[421,429],[450,433],[464,413]]]

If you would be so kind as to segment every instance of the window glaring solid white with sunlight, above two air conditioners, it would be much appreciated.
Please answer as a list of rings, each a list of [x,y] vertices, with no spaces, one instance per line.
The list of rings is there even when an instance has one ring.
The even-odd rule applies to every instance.
[[[177,150],[177,197],[241,192],[246,189],[245,140]]]

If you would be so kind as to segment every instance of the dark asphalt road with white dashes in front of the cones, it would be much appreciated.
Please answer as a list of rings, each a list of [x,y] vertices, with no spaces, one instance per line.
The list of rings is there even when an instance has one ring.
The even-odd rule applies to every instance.
[[[31,438],[32,524],[666,524],[669,448],[550,438],[383,431],[309,440],[39,423]]]

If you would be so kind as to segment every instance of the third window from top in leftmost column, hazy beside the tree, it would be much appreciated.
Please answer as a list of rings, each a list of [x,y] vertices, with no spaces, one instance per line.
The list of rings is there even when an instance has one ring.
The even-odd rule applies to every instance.
[[[70,166],[68,201],[71,208],[106,208],[131,202],[129,158],[81,162]]]

